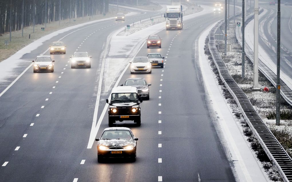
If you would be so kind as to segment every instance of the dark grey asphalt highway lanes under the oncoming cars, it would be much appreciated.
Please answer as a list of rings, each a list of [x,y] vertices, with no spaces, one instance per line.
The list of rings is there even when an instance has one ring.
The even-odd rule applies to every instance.
[[[33,73],[30,68],[0,97],[0,164],[6,164],[0,168],[0,181],[235,181],[197,67],[196,40],[223,14],[185,21],[182,31],[159,32],[162,48],[144,45],[138,55],[160,52],[166,57],[165,67],[135,75],[128,69],[122,75],[120,83],[128,77],[152,83],[150,100],[141,103],[141,126],[130,121],[117,124],[131,128],[139,138],[136,162],[97,163],[96,143],[88,149],[105,40],[127,22],[156,13],[79,28],[62,39],[67,53],[51,56],[56,60],[54,73]],[[67,33],[25,54],[27,66]],[[93,56],[90,69],[70,68],[69,56],[77,50]],[[100,89],[98,118],[109,96]],[[97,137],[107,127],[105,114]]]

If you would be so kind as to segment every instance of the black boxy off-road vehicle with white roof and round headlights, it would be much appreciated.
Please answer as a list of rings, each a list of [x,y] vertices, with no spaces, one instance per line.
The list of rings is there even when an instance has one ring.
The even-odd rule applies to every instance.
[[[138,100],[138,90],[132,86],[117,86],[112,89],[109,104],[109,126],[113,126],[116,121],[134,121],[141,126],[141,109]]]

